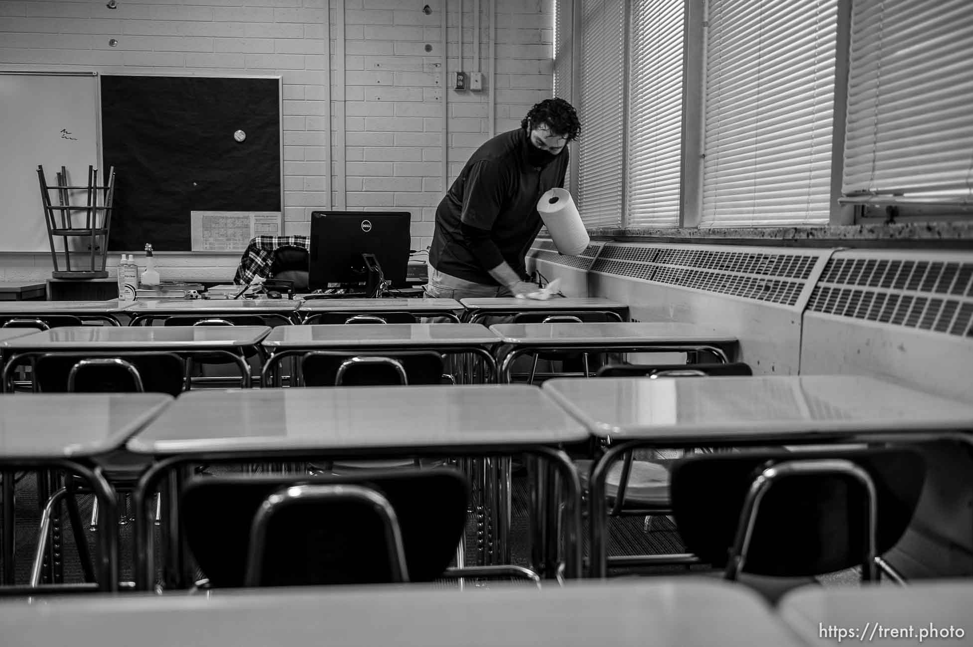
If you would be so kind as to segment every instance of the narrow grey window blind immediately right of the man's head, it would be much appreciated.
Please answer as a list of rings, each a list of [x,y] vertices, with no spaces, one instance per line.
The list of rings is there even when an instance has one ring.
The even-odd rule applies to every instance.
[[[627,0],[581,0],[581,138],[578,191],[590,227],[622,221],[623,74]]]

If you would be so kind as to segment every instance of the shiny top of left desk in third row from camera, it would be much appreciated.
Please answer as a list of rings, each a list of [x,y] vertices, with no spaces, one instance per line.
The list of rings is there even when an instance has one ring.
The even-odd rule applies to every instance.
[[[266,325],[65,325],[0,342],[11,351],[119,349],[191,351],[254,346],[267,336]]]

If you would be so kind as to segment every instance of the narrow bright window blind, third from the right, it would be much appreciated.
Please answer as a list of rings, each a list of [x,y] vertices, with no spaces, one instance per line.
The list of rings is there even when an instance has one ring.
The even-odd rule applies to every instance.
[[[629,226],[679,226],[683,0],[636,0],[629,43]]]

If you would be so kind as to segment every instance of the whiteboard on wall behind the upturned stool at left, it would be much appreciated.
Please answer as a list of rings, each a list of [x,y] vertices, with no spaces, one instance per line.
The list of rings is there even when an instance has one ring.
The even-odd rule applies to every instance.
[[[73,186],[88,184],[89,165],[99,168],[97,80],[94,73],[0,70],[0,252],[51,251],[39,164],[48,185],[61,166]],[[104,184],[100,170],[97,184]],[[55,240],[58,251],[63,240]]]

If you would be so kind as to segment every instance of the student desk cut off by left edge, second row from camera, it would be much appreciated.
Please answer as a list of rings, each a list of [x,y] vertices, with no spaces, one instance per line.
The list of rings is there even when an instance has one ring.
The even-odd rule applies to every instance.
[[[97,457],[125,445],[172,401],[163,393],[25,393],[0,402],[0,469],[3,469],[3,583],[14,584],[14,473],[63,469],[89,482],[101,506],[98,532],[102,589],[118,589],[116,500]],[[77,512],[77,508],[68,507]],[[74,515],[72,515],[74,516]],[[81,529],[80,517],[71,520]],[[78,543],[87,552],[87,543]],[[84,562],[87,562],[87,557]]]

